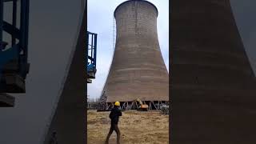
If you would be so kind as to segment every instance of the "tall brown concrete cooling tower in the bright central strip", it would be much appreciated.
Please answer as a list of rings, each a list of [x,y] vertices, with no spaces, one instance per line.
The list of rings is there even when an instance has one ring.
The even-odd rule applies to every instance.
[[[131,0],[114,10],[117,37],[102,101],[132,107],[135,99],[155,103],[169,101],[169,75],[158,42],[158,10],[147,1]]]

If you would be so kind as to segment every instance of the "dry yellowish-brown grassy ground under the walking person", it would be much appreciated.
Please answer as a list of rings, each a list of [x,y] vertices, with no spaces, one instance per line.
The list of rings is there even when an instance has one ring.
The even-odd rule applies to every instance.
[[[87,143],[104,144],[110,130],[110,112],[87,111]],[[169,143],[169,116],[159,111],[123,111],[118,122],[121,144],[167,144]],[[116,143],[116,133],[110,137]]]

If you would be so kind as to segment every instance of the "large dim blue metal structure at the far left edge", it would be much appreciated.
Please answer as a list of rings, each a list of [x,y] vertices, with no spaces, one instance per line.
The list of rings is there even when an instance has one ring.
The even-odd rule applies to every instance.
[[[4,8],[12,3],[12,22],[4,20]],[[20,22],[17,26],[17,0],[0,0],[0,94],[25,93],[25,79],[29,71],[27,62],[29,0],[20,0]],[[10,42],[3,41],[3,32]],[[11,81],[11,82],[10,82]]]

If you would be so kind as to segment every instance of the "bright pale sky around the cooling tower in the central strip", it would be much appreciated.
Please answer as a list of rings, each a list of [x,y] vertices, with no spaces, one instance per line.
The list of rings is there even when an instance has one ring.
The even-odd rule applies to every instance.
[[[98,34],[97,73],[87,84],[90,98],[99,98],[110,69],[113,47],[113,19],[115,8],[126,0],[89,0],[87,30]],[[158,8],[158,41],[162,57],[169,69],[169,0],[149,0]]]

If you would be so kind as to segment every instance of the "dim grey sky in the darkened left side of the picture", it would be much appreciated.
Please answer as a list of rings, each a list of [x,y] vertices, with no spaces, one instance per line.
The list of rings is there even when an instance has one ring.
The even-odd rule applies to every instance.
[[[13,108],[0,109],[1,144],[43,142],[46,126],[50,125],[72,67],[69,65],[78,42],[83,8],[81,0],[30,1],[30,73],[26,78],[26,94],[14,95]],[[84,66],[79,68],[82,70]],[[79,80],[86,86],[83,75]],[[86,97],[84,90],[83,87],[79,97]],[[70,114],[74,109],[65,110]]]

